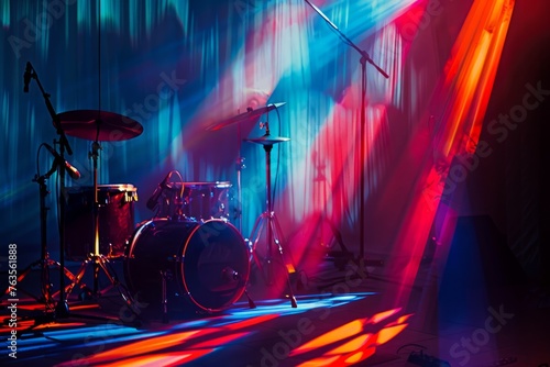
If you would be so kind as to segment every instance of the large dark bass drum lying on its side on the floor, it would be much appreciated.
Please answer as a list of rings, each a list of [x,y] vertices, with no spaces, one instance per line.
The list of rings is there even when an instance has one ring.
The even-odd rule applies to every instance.
[[[127,286],[153,312],[163,310],[163,300],[168,312],[222,311],[241,298],[249,279],[248,246],[223,220],[154,219],[136,229],[127,249]]]

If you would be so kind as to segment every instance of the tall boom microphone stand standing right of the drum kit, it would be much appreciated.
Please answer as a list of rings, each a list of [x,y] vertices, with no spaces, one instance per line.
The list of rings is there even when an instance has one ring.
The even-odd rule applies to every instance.
[[[351,47],[353,47],[360,55],[361,55],[361,59],[360,59],[360,63],[361,63],[361,146],[360,146],[360,151],[361,151],[361,162],[360,162],[360,170],[361,170],[361,182],[360,182],[360,225],[359,225],[359,242],[360,242],[360,248],[359,248],[359,262],[363,262],[363,258],[364,258],[364,242],[365,242],[365,235],[364,235],[364,222],[365,222],[365,209],[364,209],[364,205],[365,205],[365,170],[364,168],[362,167],[363,166],[363,163],[366,160],[366,144],[365,144],[365,125],[366,125],[366,115],[365,115],[365,108],[366,108],[366,103],[365,103],[365,98],[366,98],[366,63],[371,64],[372,66],[374,66],[374,68],[376,70],[378,70],[380,74],[382,74],[386,79],[389,78],[389,76],[386,74],[386,71],[384,71],[380,66],[377,66],[373,59],[371,58],[371,56],[369,56],[369,54],[366,53],[366,51],[364,49],[361,49],[358,45],[355,45],[352,41],[350,41],[350,38],[348,38],[345,36],[345,34],[343,34],[340,29],[334,24],[332,23],[328,18],[327,15],[324,15],[322,13],[322,11],[317,8],[316,5],[314,5],[311,2],[309,2],[309,0],[305,0],[332,29],[334,29],[334,31],[338,32],[338,34],[345,41],[345,43],[348,45],[350,45]],[[373,265],[373,266],[377,266],[377,265],[383,265],[383,262],[382,260],[369,260],[369,262],[364,262],[365,265]]]

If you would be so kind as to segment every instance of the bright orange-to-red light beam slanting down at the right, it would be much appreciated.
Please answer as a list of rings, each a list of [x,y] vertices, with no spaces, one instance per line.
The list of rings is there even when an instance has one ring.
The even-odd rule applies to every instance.
[[[406,285],[410,286],[416,279],[450,171],[449,168],[442,170],[441,166],[451,167],[457,155],[474,152],[477,144],[512,11],[513,1],[473,1],[430,102],[430,112],[438,111],[437,133],[429,132],[431,127],[420,127],[405,151],[399,171],[406,171],[410,165],[419,168],[410,178],[396,175],[399,181],[414,179],[416,184],[394,241],[394,252],[410,260],[405,266],[397,262],[388,266],[397,281],[404,285],[392,296],[394,304],[407,302],[410,288]],[[487,32],[487,24],[492,33]],[[424,147],[424,136],[433,136],[429,149]],[[414,160],[408,152],[417,155]]]

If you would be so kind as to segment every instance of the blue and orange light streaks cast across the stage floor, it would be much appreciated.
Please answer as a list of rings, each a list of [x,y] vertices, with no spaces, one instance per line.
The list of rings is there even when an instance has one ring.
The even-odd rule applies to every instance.
[[[20,345],[25,351],[48,351],[42,355],[42,358],[50,356],[58,359],[59,356],[73,352],[70,360],[57,366],[69,366],[75,363],[108,364],[110,366],[177,366],[229,348],[232,343],[250,341],[252,335],[257,333],[256,326],[265,325],[276,319],[311,310],[338,308],[372,294],[375,293],[299,296],[298,308],[292,308],[288,300],[284,299],[258,301],[255,309],[250,309],[248,302],[242,302],[234,304],[231,310],[227,310],[223,314],[201,320],[174,322],[172,325],[160,325],[154,331],[138,330],[117,323],[77,327],[76,330],[45,330],[42,331],[42,336],[22,338]],[[321,360],[327,363],[337,360],[340,364],[344,359],[364,359],[365,355],[372,352],[370,347],[375,346],[375,343],[381,341],[389,340],[392,331],[397,333],[406,318],[396,319],[393,322],[395,329],[388,327],[387,335],[366,334],[364,326],[376,324],[397,312],[398,310],[389,310],[372,318],[354,320],[323,335],[320,341],[314,340],[312,343],[317,343],[315,346],[306,344],[301,348],[306,352],[315,351],[322,343],[332,347],[330,353],[317,356],[320,358],[316,360],[317,365],[322,365]],[[70,323],[59,323],[59,326],[70,326]],[[342,335],[344,335],[344,340]],[[331,342],[330,338],[333,341]],[[338,345],[339,342],[342,344]],[[38,360],[38,357],[29,358],[29,360]]]

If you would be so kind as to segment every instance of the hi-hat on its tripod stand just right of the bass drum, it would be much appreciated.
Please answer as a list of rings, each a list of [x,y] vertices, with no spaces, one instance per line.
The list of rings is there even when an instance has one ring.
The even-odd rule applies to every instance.
[[[283,256],[283,243],[280,241],[280,237],[282,237],[282,234],[283,234],[283,231],[280,230],[280,225],[277,221],[277,218],[275,216],[275,212],[273,210],[273,203],[272,203],[272,189],[271,189],[271,151],[273,148],[273,144],[276,144],[276,143],[280,143],[280,142],[286,142],[288,141],[289,138],[287,137],[275,137],[275,136],[271,136],[270,134],[270,125],[268,125],[268,122],[266,122],[265,124],[265,127],[266,127],[266,132],[265,132],[265,135],[260,137],[260,138],[252,138],[252,140],[246,140],[248,142],[252,142],[252,143],[256,143],[256,144],[262,144],[264,146],[264,151],[265,151],[265,176],[266,176],[266,211],[263,212],[257,219],[256,219],[256,222],[254,223],[254,226],[252,229],[252,233],[251,233],[251,236],[250,236],[250,242],[252,243],[252,248],[251,248],[251,252],[252,252],[252,256],[254,258],[254,262],[256,263],[256,266],[258,267],[260,271],[262,271],[262,275],[264,275],[264,278],[266,278],[265,276],[265,271],[263,269],[263,266],[260,262],[260,259],[257,258],[257,255],[256,255],[256,246],[257,246],[257,243],[260,241],[260,237],[261,237],[261,234],[262,234],[262,230],[265,227],[267,230],[267,266],[268,266],[268,269],[267,269],[267,282],[268,283],[273,283],[273,274],[272,274],[272,267],[273,267],[273,262],[272,262],[272,258],[271,258],[271,254],[272,254],[272,245],[275,244],[276,245],[276,248],[280,255],[280,258],[284,262],[284,256]],[[294,263],[294,262],[293,262]],[[293,268],[294,268],[294,264],[292,264]],[[290,283],[290,275],[289,275],[289,271],[288,271],[288,267],[287,267],[287,271],[286,271],[286,282],[287,282],[287,286],[288,286],[288,290],[290,292],[289,294],[289,298],[290,298],[290,304],[293,308],[297,308],[297,303],[296,303],[296,298],[294,296],[294,292],[293,292],[293,287],[292,287],[292,283]],[[248,296],[248,294],[246,294]]]

